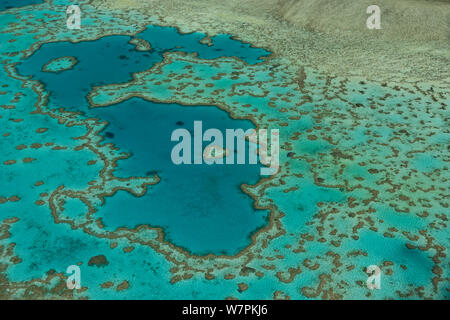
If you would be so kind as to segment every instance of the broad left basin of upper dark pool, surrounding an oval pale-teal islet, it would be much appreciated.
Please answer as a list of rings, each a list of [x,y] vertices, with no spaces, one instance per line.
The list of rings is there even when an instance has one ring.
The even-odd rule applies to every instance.
[[[133,72],[160,61],[159,54],[136,51],[129,40],[127,36],[111,36],[80,43],[48,43],[22,62],[18,70],[45,85],[50,92],[50,106],[86,112],[86,95],[93,86],[129,81]],[[42,71],[47,62],[64,56],[75,57],[78,64],[60,73]]]

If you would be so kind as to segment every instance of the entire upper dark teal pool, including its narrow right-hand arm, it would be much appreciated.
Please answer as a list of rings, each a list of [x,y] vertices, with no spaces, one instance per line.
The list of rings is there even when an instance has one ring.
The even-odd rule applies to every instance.
[[[137,51],[128,43],[129,36],[109,36],[80,43],[46,43],[17,67],[23,75],[39,80],[50,92],[50,106],[64,106],[68,110],[87,111],[86,95],[93,86],[124,83],[132,73],[150,69],[163,60],[170,51],[195,53],[199,58],[214,60],[233,57],[249,63],[262,62],[270,53],[249,44],[233,40],[228,35],[211,39],[212,46],[200,43],[206,34],[195,32],[180,34],[176,28],[149,26],[136,37],[149,41],[152,50]],[[52,59],[73,56],[78,64],[61,73],[43,72],[42,67]]]

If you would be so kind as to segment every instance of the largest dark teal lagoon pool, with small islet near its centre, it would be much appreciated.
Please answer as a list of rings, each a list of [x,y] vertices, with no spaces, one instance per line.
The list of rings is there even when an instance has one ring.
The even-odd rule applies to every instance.
[[[255,211],[253,200],[239,188],[258,182],[260,166],[175,165],[170,158],[177,143],[170,141],[175,129],[193,132],[194,121],[201,120],[203,131],[247,130],[253,128],[250,121],[231,119],[213,106],[158,104],[139,98],[90,114],[109,122],[103,133],[106,142],[132,154],[119,161],[117,176],[156,173],[161,178],[141,198],[125,191],[106,198],[99,210],[106,228],[160,226],[166,240],[191,253],[235,254],[250,244],[253,231],[267,223],[267,212]]]

